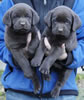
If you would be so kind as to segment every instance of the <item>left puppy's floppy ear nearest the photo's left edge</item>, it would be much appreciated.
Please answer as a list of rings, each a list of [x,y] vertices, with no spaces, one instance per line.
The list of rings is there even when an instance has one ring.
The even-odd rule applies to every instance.
[[[7,25],[7,26],[11,26],[11,11],[10,10],[8,10],[6,13],[5,13],[5,15],[4,15],[4,17],[3,17],[3,23],[5,24],[5,25]]]

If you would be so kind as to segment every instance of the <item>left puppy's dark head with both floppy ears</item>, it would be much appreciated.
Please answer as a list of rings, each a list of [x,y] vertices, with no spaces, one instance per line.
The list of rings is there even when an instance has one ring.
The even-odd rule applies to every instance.
[[[39,16],[27,4],[18,3],[6,12],[3,22],[16,31],[30,30],[32,25],[39,22]]]

